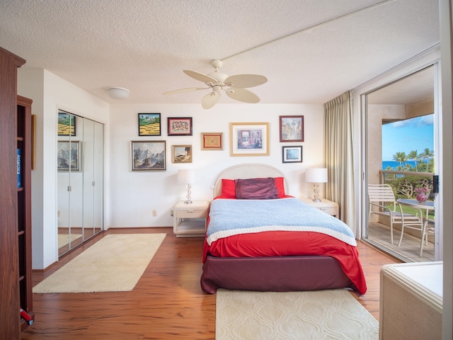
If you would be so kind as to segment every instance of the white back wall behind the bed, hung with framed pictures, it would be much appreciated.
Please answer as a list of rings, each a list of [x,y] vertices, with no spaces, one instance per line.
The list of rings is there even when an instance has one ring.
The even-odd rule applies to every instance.
[[[138,113],[161,113],[161,136],[138,136]],[[280,142],[279,115],[304,115],[304,142]],[[192,136],[168,136],[168,117],[192,117]],[[269,123],[269,156],[231,157],[229,123]],[[201,132],[223,132],[224,149],[201,150]],[[211,200],[212,185],[221,171],[244,163],[270,164],[287,176],[289,194],[308,197],[305,169],[323,162],[323,106],[297,104],[217,104],[204,110],[200,104],[117,104],[110,108],[110,227],[168,227],[171,209],[185,198],[178,184],[178,169],[195,169],[193,200]],[[131,141],[165,140],[166,171],[131,171]],[[171,163],[172,145],[192,145],[193,162]],[[282,163],[282,146],[302,145],[302,163]],[[152,210],[157,216],[152,216]]]

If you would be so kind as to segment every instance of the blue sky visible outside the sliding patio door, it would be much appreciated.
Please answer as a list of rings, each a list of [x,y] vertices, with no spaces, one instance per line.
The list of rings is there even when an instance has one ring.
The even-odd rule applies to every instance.
[[[382,125],[382,161],[392,161],[396,152],[434,150],[434,115]]]

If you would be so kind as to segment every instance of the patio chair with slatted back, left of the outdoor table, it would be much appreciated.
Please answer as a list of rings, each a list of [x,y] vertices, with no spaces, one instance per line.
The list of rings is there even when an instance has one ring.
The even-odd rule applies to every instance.
[[[368,184],[368,201],[369,201],[369,212],[368,218],[372,213],[378,215],[389,216],[390,219],[390,242],[394,244],[394,225],[401,225],[401,237],[398,246],[401,244],[403,239],[403,210],[401,205],[398,205],[399,211],[396,210],[396,198],[394,191],[388,184]],[[391,205],[391,208],[386,207],[385,205]],[[372,207],[375,206],[378,209],[372,210]],[[413,228],[415,225],[423,225],[422,217],[411,214],[404,214],[404,223],[406,227]],[[421,230],[421,228],[420,228]]]

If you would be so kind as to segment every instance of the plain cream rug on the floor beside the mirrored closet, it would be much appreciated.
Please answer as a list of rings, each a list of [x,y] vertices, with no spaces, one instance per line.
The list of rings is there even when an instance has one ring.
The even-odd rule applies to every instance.
[[[166,234],[110,234],[33,287],[33,293],[132,290]]]

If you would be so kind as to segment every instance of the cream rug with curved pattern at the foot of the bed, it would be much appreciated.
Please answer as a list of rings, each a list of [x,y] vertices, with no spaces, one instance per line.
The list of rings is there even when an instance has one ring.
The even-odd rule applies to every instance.
[[[215,339],[378,339],[379,323],[348,290],[217,290]]]

